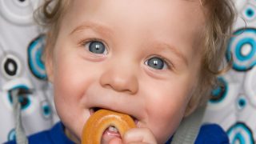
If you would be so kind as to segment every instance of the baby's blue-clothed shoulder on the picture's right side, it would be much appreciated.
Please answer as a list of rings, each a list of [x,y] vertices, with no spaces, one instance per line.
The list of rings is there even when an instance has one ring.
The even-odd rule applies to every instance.
[[[217,124],[206,124],[201,126],[196,144],[228,144],[229,138],[221,126]]]

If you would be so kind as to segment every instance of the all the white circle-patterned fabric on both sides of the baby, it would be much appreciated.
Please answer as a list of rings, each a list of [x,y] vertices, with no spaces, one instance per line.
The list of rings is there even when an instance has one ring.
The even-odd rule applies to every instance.
[[[234,2],[238,20],[226,54],[226,58],[234,54],[234,64],[219,78],[222,85],[213,90],[204,122],[220,124],[231,143],[250,144],[256,141],[256,0]],[[58,121],[41,59],[45,38],[33,20],[39,4],[39,0],[0,0],[0,143],[15,138],[10,90],[33,90],[19,99],[27,135]]]

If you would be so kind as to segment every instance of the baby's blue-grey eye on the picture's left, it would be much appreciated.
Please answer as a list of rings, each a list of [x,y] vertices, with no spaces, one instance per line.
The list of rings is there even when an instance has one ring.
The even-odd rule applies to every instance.
[[[89,43],[89,51],[94,54],[106,54],[106,47],[102,42],[93,41]]]

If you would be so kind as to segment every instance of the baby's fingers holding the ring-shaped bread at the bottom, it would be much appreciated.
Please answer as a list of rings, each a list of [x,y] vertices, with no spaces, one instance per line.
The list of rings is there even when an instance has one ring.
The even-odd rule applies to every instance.
[[[156,144],[154,134],[147,128],[130,129],[120,138],[113,138],[109,144]]]

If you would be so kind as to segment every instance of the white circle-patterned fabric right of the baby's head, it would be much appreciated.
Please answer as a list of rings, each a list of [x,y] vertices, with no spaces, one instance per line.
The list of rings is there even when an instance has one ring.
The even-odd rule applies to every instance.
[[[256,141],[256,1],[235,0],[238,20],[230,39],[226,58],[232,52],[232,70],[219,78],[221,86],[208,102],[205,122],[219,123],[230,143]]]

